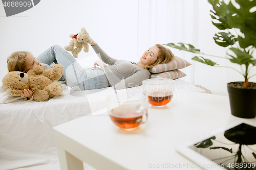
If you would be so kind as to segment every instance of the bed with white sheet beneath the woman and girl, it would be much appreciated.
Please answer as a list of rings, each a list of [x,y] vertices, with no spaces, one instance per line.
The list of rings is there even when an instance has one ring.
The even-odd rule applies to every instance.
[[[174,82],[178,90],[206,93],[180,79]],[[118,92],[139,91],[140,88]],[[105,115],[105,98],[114,92],[112,87],[71,94],[68,88],[66,90],[66,95],[45,102],[15,101],[0,105],[0,170],[60,169],[52,127],[84,115]]]

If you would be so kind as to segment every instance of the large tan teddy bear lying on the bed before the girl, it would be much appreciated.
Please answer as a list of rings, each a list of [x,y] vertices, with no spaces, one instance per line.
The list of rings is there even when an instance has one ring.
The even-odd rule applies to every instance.
[[[55,64],[53,68],[44,69],[35,66],[27,74],[20,71],[11,71],[3,78],[3,86],[13,96],[20,96],[24,89],[33,91],[32,99],[38,102],[46,101],[53,96],[62,94],[62,87],[57,80],[63,74],[63,66]]]

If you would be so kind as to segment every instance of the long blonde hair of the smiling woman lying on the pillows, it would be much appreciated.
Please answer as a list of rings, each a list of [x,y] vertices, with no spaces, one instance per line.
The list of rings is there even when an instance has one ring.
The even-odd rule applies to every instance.
[[[156,44],[156,46],[159,48],[159,54],[158,54],[157,60],[155,61],[154,64],[147,65],[145,67],[145,69],[147,69],[150,72],[151,72],[150,68],[156,66],[157,64],[166,63],[166,62],[174,59],[174,54],[172,53],[172,51],[170,51],[169,48],[166,48],[165,46],[163,46],[161,44]]]

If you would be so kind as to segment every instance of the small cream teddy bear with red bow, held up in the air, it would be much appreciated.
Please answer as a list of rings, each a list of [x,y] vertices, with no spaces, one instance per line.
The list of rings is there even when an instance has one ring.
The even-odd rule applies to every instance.
[[[75,58],[77,58],[78,53],[82,51],[82,47],[84,52],[89,52],[88,43],[92,42],[92,38],[89,36],[89,33],[85,28],[81,28],[81,31],[78,34],[71,34],[70,37],[72,40],[69,42],[69,45],[66,45],[64,48],[67,51],[72,52]],[[76,48],[74,48],[75,46]]]

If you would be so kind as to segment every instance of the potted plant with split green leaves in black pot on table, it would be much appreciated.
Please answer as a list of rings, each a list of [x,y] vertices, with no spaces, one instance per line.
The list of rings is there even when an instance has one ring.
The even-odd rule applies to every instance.
[[[218,45],[228,48],[227,56],[221,58],[239,64],[243,68],[242,71],[239,71],[229,67],[244,76],[244,82],[230,82],[227,84],[231,113],[238,117],[253,118],[256,115],[256,83],[248,80],[256,76],[256,74],[250,75],[251,67],[256,66],[256,59],[252,57],[256,48],[256,11],[251,12],[252,8],[256,6],[256,1],[236,0],[236,2],[240,6],[239,9],[234,7],[231,1],[225,4],[219,0],[208,0],[208,3],[212,5],[212,10],[210,10],[212,24],[222,30],[216,33],[213,38]],[[231,34],[231,29],[237,35]],[[168,43],[164,45],[206,55],[191,44]],[[210,66],[218,65],[216,62],[201,56],[195,56],[192,59]]]

